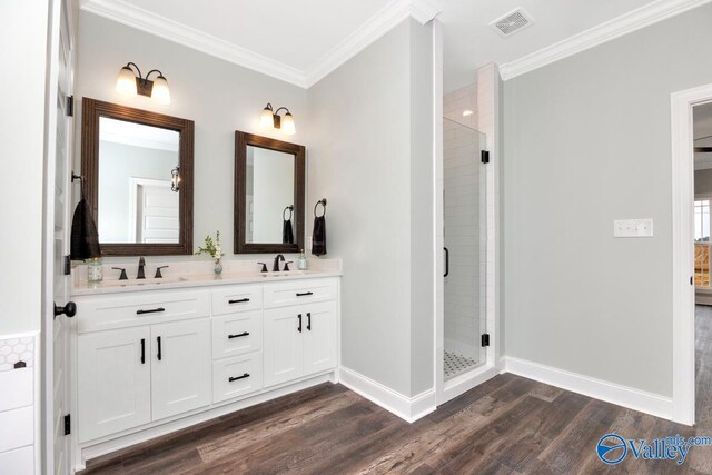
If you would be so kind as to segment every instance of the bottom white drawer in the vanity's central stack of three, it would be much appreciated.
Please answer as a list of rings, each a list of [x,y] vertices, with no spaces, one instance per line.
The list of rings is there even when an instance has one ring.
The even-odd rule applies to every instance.
[[[261,388],[261,352],[212,364],[212,403],[233,399]]]

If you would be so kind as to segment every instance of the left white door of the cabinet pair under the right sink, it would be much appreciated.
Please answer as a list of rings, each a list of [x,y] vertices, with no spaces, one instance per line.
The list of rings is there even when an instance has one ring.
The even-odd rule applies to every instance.
[[[299,327],[299,315],[301,326]],[[306,317],[300,307],[267,310],[264,316],[265,386],[296,379],[303,374]]]

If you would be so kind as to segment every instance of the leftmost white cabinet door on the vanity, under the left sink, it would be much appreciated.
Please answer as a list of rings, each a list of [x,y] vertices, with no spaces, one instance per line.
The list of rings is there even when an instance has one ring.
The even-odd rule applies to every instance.
[[[78,337],[79,442],[151,422],[150,354],[149,327]]]

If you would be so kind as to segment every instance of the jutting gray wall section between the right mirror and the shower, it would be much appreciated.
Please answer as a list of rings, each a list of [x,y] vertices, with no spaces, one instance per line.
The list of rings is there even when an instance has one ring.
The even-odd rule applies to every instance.
[[[429,31],[403,22],[308,96],[308,202],[328,198],[329,256],[344,259],[342,363],[404,395],[433,386],[433,216],[421,202],[432,202],[433,93],[412,77],[432,77]]]

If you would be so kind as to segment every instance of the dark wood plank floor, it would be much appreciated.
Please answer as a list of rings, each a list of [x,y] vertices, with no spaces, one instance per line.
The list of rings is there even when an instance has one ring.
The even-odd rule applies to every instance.
[[[325,384],[91,461],[85,474],[712,474],[712,447],[682,467],[627,457],[609,467],[601,436],[712,435],[712,308],[698,307],[694,428],[513,375],[407,424]]]

